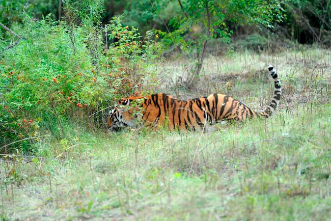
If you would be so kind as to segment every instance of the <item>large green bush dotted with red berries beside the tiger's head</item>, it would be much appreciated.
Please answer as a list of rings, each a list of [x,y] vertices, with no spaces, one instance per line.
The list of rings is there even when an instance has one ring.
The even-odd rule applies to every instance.
[[[66,5],[67,14],[73,6]],[[141,93],[145,63],[157,53],[154,34],[148,32],[142,41],[137,29],[122,26],[121,18],[100,27],[95,24],[98,10],[84,16],[90,12],[79,14],[81,23],[26,16],[16,28],[23,40],[3,49],[0,63],[0,146],[45,130],[63,136],[67,121],[103,127],[102,116],[88,116],[119,97]],[[103,33],[109,33],[108,45]],[[153,78],[149,82],[144,87],[154,84]],[[34,142],[26,140],[16,149],[31,151]]]

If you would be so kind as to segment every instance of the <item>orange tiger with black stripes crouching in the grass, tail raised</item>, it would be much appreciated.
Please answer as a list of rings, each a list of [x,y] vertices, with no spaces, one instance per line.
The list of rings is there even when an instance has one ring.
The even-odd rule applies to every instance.
[[[277,71],[272,65],[269,65],[268,70],[274,80],[274,91],[270,103],[261,112],[255,112],[224,94],[178,100],[171,95],[158,93],[121,98],[108,113],[107,127],[117,131],[143,124],[148,127],[168,126],[169,129],[195,131],[203,129],[207,123],[215,125],[220,121],[241,122],[250,118],[268,118],[277,108],[282,96]]]

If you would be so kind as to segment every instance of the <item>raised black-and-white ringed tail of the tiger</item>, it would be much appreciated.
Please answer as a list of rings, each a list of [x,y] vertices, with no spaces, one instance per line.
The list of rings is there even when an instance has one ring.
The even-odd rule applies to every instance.
[[[261,117],[265,117],[265,118],[268,118],[272,115],[274,110],[277,108],[282,96],[281,81],[278,77],[277,71],[273,69],[272,65],[269,65],[268,70],[274,80],[274,91],[273,91],[273,97],[269,105],[267,105],[264,108],[264,110],[262,110],[262,112],[259,113]]]

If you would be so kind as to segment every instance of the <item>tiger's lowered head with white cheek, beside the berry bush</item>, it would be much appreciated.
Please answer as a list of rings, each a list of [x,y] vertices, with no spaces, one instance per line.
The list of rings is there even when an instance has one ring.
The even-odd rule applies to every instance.
[[[134,104],[136,104],[136,100],[139,101],[141,98],[143,97],[121,98],[117,105],[108,113],[108,129],[118,131],[124,127],[137,126],[137,116],[135,113],[139,111],[139,106]]]

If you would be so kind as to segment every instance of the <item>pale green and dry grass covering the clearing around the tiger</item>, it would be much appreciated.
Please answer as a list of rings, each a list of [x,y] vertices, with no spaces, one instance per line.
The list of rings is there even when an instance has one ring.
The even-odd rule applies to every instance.
[[[145,128],[91,133],[67,125],[66,138],[45,137],[36,156],[2,158],[2,218],[329,219],[329,53],[302,49],[209,57],[202,81],[210,79],[210,85],[195,91],[176,84],[176,74],[184,73],[182,58],[168,61],[160,73],[169,76],[173,66],[174,84],[168,81],[160,90],[194,97],[218,85],[218,92],[255,108],[271,97],[264,76],[271,61],[282,79],[282,103],[270,119],[217,125],[217,131],[204,134]]]

